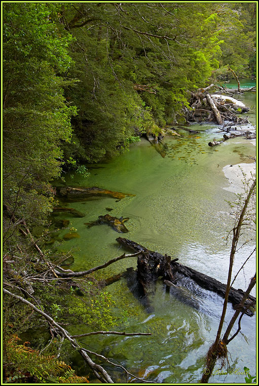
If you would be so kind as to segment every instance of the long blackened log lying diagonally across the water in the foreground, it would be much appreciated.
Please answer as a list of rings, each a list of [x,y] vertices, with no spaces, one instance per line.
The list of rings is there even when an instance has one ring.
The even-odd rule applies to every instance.
[[[162,260],[163,255],[161,255],[160,253],[158,252],[153,252],[153,251],[150,251],[149,249],[143,247],[142,245],[140,244],[137,244],[131,240],[128,240],[128,239],[123,239],[121,237],[119,237],[118,239],[116,239],[120,244],[122,244],[123,246],[133,250],[133,251],[142,251],[146,254],[146,256],[152,256],[152,255],[155,255],[155,256],[159,256],[160,259]],[[141,255],[140,255],[141,256]],[[178,260],[178,259],[177,259]],[[188,266],[185,266],[185,265],[182,265],[178,262],[176,262],[175,260],[172,260],[171,261],[171,266],[172,266],[172,272],[175,274],[179,273],[179,274],[182,274],[188,278],[191,278],[193,279],[197,284],[199,284],[202,288],[205,288],[209,291],[213,291],[213,292],[216,292],[218,295],[222,296],[222,297],[225,297],[225,293],[226,293],[226,284],[223,284],[223,283],[220,283],[219,281],[211,278],[210,276],[207,276],[205,274],[202,274],[198,271],[195,271],[195,269],[193,268],[190,268]],[[169,279],[169,278],[164,278],[165,280],[168,280],[169,282],[173,282],[174,279]],[[244,291],[241,290],[241,289],[235,289],[235,288],[231,288],[230,290],[230,294],[229,294],[229,302],[231,302],[233,304],[233,306],[237,306],[242,297],[243,297],[243,294],[244,294]],[[248,297],[249,300],[252,300],[252,301],[255,301],[255,297],[249,295]],[[246,300],[245,302],[245,307],[247,305],[249,305],[250,301],[249,300]],[[246,310],[245,312],[247,315],[249,316],[252,316],[253,313],[252,311],[250,311],[249,309]]]

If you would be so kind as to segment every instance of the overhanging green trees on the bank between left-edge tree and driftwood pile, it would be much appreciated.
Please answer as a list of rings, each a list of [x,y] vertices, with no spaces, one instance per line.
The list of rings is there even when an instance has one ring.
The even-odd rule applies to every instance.
[[[68,5],[64,15],[76,38],[70,71],[80,83],[67,99],[79,109],[72,121],[79,146],[71,148],[79,162],[124,151],[150,121],[174,122],[188,104],[186,89],[203,87],[218,67],[219,16],[210,4],[138,4],[136,10],[131,3],[82,3]]]

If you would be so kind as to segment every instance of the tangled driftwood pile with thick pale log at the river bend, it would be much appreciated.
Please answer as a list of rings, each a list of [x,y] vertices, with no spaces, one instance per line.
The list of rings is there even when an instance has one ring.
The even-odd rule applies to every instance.
[[[225,121],[239,125],[249,123],[247,117],[242,119],[236,115],[237,113],[248,112],[248,107],[240,106],[233,100],[220,95],[210,95],[208,91],[212,87],[215,86],[211,84],[204,89],[199,89],[196,93],[189,92],[191,108],[184,109],[187,123],[217,122],[218,125],[223,125]]]

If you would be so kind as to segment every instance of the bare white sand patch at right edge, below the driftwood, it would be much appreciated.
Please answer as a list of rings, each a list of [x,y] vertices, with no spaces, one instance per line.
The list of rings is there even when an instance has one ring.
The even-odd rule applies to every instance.
[[[244,189],[242,182],[244,181],[243,173],[246,175],[246,179],[251,178],[251,173],[256,173],[256,163],[227,165],[223,168],[223,171],[230,184],[229,187],[224,187],[224,189],[234,193],[242,193]]]

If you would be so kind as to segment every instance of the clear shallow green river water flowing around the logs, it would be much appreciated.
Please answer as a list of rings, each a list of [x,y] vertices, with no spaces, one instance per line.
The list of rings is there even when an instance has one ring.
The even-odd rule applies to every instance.
[[[255,104],[255,94],[246,93],[242,99],[248,106]],[[172,258],[178,257],[182,264],[226,283],[230,245],[226,246],[225,238],[233,223],[225,200],[233,201],[235,195],[224,189],[229,183],[222,169],[228,164],[252,162],[246,156],[255,157],[255,146],[236,138],[211,148],[208,142],[222,137],[217,127],[194,125],[194,128],[202,132],[190,135],[182,132],[182,138],[166,139],[165,158],[142,139],[125,155],[89,169],[91,176],[87,180],[66,176],[67,185],[99,186],[136,195],[119,202],[104,198],[68,204],[86,213],[84,218],[58,217],[70,219],[70,225],[77,228],[80,235],[80,238],[54,245],[59,250],[72,249],[75,263],[71,269],[87,269],[119,256],[123,250],[116,238],[122,236]],[[125,223],[129,233],[119,235],[107,225],[91,228],[84,225],[107,213],[106,207],[113,208],[108,212],[113,216],[130,218]],[[65,233],[67,230],[62,230],[60,236]],[[247,244],[237,253],[234,273],[253,247]],[[118,261],[102,273],[109,277],[129,266],[136,267],[136,258]],[[235,287],[244,289],[254,271],[255,257],[249,261]],[[152,300],[155,310],[152,315],[146,314],[124,280],[107,287],[117,302],[114,312],[129,312],[127,322],[114,329],[152,332],[153,335],[91,337],[84,342],[98,353],[118,360],[132,373],[155,383],[197,382],[201,378],[204,357],[215,337],[223,299],[193,282],[186,280],[181,284],[185,287],[182,291],[171,289],[168,293],[163,284],[158,283]],[[232,314],[229,305],[227,321]],[[82,327],[80,331],[82,333]],[[229,344],[233,368],[241,371],[246,366],[252,375],[255,374],[255,348],[255,317],[244,316],[242,333]],[[80,358],[77,361],[79,371],[84,373]],[[115,382],[125,382],[118,370],[107,369]],[[224,375],[217,375],[211,381],[244,382],[244,376],[228,375],[225,379]]]

